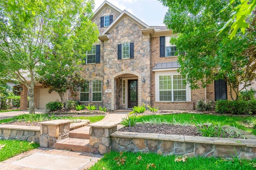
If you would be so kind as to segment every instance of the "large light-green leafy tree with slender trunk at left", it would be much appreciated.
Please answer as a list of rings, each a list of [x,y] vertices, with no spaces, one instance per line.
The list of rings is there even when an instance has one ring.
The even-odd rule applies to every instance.
[[[93,0],[34,3],[32,11],[26,10],[30,19],[24,23],[19,14],[22,5],[9,10],[8,2],[0,1],[0,74],[28,88],[30,113],[34,113],[36,80],[57,69],[76,69],[98,39],[98,29],[90,20]]]

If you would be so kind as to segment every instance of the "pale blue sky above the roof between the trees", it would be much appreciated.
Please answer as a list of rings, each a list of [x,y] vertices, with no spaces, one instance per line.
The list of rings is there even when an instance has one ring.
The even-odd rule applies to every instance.
[[[104,2],[104,0],[94,0],[94,11]],[[149,26],[164,25],[164,15],[168,8],[164,7],[158,0],[108,0],[120,10],[126,10],[139,20]]]

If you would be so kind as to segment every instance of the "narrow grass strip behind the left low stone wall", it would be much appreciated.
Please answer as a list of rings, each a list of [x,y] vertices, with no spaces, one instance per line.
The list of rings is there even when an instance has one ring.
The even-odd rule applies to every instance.
[[[7,123],[13,121],[26,121],[26,122],[41,122],[41,121],[48,121],[48,120],[56,120],[56,119],[69,119],[69,120],[76,120],[76,119],[89,119],[91,123],[96,121],[100,121],[105,116],[88,116],[88,117],[72,117],[72,116],[54,116],[52,114],[23,114],[14,116],[13,118],[2,119],[0,123]]]

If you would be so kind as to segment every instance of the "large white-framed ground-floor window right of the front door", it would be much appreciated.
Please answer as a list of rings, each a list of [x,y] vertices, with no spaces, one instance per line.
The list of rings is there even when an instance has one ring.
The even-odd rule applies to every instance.
[[[176,102],[187,101],[186,85],[182,82],[182,75],[159,76],[159,101]]]

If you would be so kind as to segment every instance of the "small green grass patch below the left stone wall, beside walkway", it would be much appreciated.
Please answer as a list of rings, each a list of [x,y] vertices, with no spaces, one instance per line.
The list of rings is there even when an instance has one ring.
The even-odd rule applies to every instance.
[[[28,141],[0,140],[0,162],[39,146],[39,143]]]

